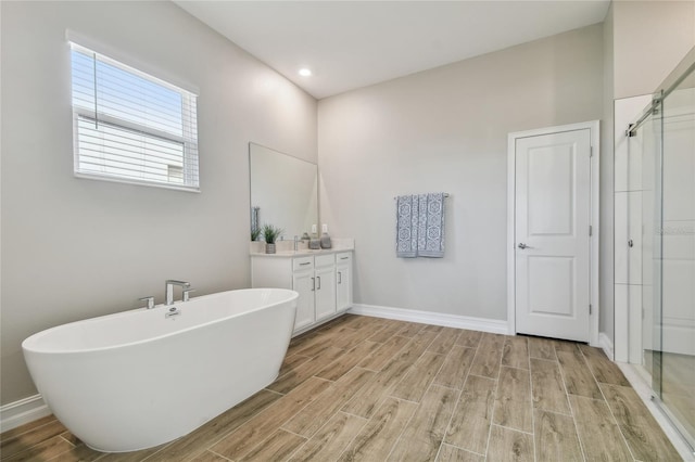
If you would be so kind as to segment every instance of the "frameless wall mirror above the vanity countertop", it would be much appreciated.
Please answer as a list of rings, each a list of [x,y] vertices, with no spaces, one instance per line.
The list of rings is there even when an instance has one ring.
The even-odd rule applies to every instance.
[[[274,224],[292,240],[318,223],[316,164],[249,143],[251,227]]]

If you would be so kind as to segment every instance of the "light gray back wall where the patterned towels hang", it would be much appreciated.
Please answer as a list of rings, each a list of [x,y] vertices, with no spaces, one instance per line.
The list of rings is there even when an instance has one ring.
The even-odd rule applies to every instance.
[[[598,24],[319,101],[321,221],[355,238],[355,301],[506,319],[507,133],[601,119],[603,59]],[[446,257],[397,259],[393,196],[429,191],[451,194]]]

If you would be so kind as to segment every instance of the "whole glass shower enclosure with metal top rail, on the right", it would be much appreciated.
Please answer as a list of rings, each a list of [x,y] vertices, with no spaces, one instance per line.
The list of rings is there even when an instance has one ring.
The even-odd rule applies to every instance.
[[[641,365],[695,448],[695,49],[629,133],[630,156],[641,155]]]

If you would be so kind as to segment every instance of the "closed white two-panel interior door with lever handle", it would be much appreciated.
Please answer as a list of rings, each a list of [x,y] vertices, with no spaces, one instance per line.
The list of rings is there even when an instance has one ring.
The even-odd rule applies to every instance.
[[[590,339],[591,130],[515,144],[516,332]]]

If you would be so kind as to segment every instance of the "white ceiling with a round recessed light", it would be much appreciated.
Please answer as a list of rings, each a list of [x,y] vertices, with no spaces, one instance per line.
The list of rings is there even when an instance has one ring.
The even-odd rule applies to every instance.
[[[601,23],[610,3],[174,1],[317,99]]]

